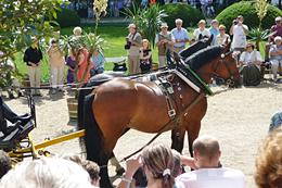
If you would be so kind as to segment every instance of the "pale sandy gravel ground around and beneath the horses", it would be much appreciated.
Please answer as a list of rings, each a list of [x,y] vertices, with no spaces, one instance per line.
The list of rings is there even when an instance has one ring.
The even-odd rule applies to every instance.
[[[222,90],[217,87],[213,89]],[[68,120],[67,97],[66,93],[50,96],[43,91],[43,97],[35,99],[38,125],[31,135],[36,143],[75,129]],[[25,98],[7,102],[18,113],[29,111]],[[222,150],[221,163],[223,166],[243,171],[247,187],[252,188],[255,187],[253,173],[257,149],[268,133],[270,117],[281,110],[281,84],[262,83],[259,87],[242,87],[220,92],[208,97],[208,109],[202,121],[200,134],[214,135],[219,139]],[[130,130],[120,138],[115,148],[117,159],[142,147],[151,137],[153,135]],[[170,145],[170,133],[164,133],[156,141]],[[49,147],[48,150],[56,154],[81,152],[78,139]],[[183,153],[189,153],[187,140]],[[110,174],[114,175],[114,168],[110,167]]]

